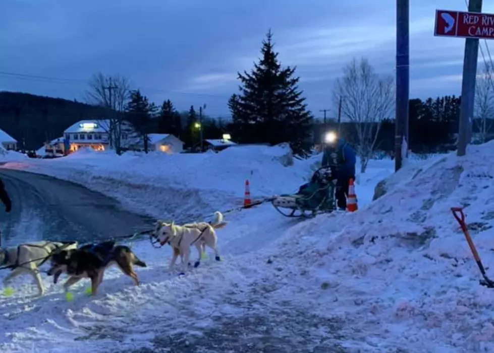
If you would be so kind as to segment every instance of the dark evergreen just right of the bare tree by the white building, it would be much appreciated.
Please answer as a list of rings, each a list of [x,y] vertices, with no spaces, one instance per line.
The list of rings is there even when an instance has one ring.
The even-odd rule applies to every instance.
[[[127,119],[134,125],[135,129],[142,136],[144,141],[144,152],[148,153],[148,134],[152,125],[152,118],[156,113],[154,103],[149,103],[146,96],[140,90],[132,91],[130,101],[126,106]]]

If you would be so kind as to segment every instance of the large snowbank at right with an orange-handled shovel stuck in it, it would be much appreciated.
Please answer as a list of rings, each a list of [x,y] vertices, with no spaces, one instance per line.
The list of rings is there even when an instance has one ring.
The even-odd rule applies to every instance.
[[[345,322],[355,341],[344,346],[493,351],[494,291],[479,286],[450,210],[464,207],[484,265],[494,263],[493,148],[471,146],[463,158],[405,167],[375,202],[297,225],[265,256],[288,268],[293,290],[305,288],[323,315]]]

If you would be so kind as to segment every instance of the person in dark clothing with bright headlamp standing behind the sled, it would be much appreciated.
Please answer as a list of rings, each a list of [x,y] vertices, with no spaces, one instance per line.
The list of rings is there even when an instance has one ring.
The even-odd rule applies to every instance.
[[[331,138],[332,136],[334,138]],[[356,163],[355,151],[343,138],[337,138],[336,134],[326,138],[322,167],[332,167],[333,177],[337,179],[336,202],[338,208],[342,210],[347,208],[348,187],[350,179],[355,180]]]

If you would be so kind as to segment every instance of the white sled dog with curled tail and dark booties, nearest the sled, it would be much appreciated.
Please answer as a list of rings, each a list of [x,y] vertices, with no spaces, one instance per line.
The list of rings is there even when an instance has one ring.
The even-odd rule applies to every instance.
[[[173,251],[172,261],[170,262],[170,270],[174,268],[178,255],[182,259],[182,273],[185,273],[189,263],[190,247],[195,245],[199,257],[194,263],[194,267],[199,266],[201,255],[207,245],[214,250],[216,261],[220,260],[218,249],[216,247],[216,232],[215,229],[225,227],[228,223],[223,221],[223,215],[217,211],[214,213],[215,220],[211,223],[199,222],[188,223],[183,226],[172,223],[158,222],[154,231],[154,236],[158,239],[161,245],[170,244]]]

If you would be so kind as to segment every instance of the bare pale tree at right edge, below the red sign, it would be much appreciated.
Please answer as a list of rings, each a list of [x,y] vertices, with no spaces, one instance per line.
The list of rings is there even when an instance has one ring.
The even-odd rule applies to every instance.
[[[486,142],[494,118],[494,76],[492,69],[491,64],[486,62],[476,80],[474,116],[480,132],[480,143]]]

